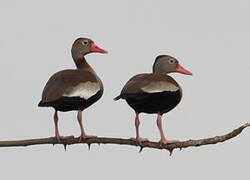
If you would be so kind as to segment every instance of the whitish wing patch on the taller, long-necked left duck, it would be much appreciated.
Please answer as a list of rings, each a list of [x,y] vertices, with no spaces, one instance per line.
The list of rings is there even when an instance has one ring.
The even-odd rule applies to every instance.
[[[95,95],[99,90],[100,85],[98,83],[87,81],[71,88],[69,91],[65,92],[63,96],[80,97],[87,100],[91,96]]]

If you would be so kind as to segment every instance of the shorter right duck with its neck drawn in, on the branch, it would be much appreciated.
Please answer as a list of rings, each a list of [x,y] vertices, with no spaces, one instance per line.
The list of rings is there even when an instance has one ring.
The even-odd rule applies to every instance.
[[[175,143],[177,140],[167,140],[162,130],[162,115],[172,110],[182,97],[182,89],[169,75],[171,72],[192,75],[184,69],[174,57],[160,55],[153,65],[153,73],[138,74],[132,77],[123,87],[121,94],[115,100],[125,99],[135,110],[136,141],[140,144],[148,141],[139,135],[139,113],[157,113],[157,126],[161,135],[161,144]]]

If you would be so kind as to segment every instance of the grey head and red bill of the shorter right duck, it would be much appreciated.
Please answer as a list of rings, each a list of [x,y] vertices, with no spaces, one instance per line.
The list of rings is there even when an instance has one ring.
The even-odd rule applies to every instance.
[[[157,56],[153,65],[153,73],[167,74],[171,72],[179,72],[182,74],[192,75],[192,73],[184,69],[179,61],[169,55]]]

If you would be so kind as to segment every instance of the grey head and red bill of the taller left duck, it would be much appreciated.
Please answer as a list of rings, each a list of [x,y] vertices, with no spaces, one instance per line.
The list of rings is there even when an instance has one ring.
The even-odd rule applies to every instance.
[[[94,41],[88,38],[78,38],[72,45],[71,54],[73,59],[83,59],[85,55],[93,52],[107,53],[104,49],[99,48]]]

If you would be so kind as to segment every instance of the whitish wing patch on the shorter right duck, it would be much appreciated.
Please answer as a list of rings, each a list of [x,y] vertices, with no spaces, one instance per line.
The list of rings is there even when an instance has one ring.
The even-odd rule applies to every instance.
[[[147,86],[144,86],[141,88],[142,91],[147,92],[147,93],[157,93],[157,92],[163,92],[163,91],[177,91],[179,90],[179,87],[176,85],[170,83],[170,82],[165,82],[165,81],[158,81],[158,82],[151,82]]]

